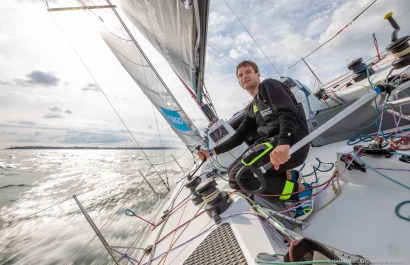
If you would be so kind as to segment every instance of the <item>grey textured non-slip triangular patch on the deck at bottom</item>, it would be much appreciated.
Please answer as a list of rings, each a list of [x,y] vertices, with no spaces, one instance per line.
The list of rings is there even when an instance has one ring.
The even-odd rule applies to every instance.
[[[245,256],[228,223],[212,231],[184,262],[185,265],[198,264],[239,264],[246,265]]]

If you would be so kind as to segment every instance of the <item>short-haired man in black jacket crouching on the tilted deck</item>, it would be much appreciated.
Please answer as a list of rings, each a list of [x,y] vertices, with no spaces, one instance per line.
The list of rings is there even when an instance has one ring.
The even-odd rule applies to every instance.
[[[276,194],[281,200],[308,199],[312,195],[311,188],[307,184],[299,184],[299,172],[291,169],[303,164],[309,145],[289,155],[290,147],[309,133],[302,106],[297,105],[292,92],[281,82],[273,79],[260,82],[258,66],[252,61],[239,63],[236,76],[239,85],[254,98],[253,104],[231,138],[210,150],[212,154],[207,150],[198,150],[198,157],[204,159],[227,152],[243,143],[246,136],[257,128],[258,140],[228,168],[230,187],[240,189],[236,175],[244,165],[260,167],[271,162],[273,168],[263,175],[267,184],[263,193]],[[250,190],[260,187],[260,182],[252,173],[241,177],[241,183]],[[300,220],[312,213],[312,200],[304,205],[296,209],[295,217]]]

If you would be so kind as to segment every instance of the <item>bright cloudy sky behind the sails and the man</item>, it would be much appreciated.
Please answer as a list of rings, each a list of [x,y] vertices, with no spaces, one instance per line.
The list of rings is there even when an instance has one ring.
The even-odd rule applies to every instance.
[[[393,12],[401,26],[399,37],[410,34],[408,0],[378,0],[352,22],[372,2],[212,0],[205,85],[219,117],[229,119],[250,101],[235,77],[237,62],[255,61],[264,78],[290,76],[317,88],[303,63],[288,68],[346,25],[306,58],[323,83],[346,71],[354,59],[375,56],[373,33],[380,52],[384,51],[392,33],[383,19],[386,13]],[[0,4],[0,149],[181,145],[84,12],[49,13],[41,0],[0,0]],[[49,0],[48,4],[61,7],[76,2]],[[185,112],[203,130],[207,122],[188,92],[135,33]]]

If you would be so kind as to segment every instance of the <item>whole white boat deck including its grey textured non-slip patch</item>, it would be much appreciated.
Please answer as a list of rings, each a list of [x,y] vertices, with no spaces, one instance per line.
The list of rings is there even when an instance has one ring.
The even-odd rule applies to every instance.
[[[369,143],[358,144],[367,146]],[[346,141],[311,148],[302,169],[304,175],[313,172],[313,167],[318,167],[321,161],[317,171],[318,184],[325,183],[334,173],[335,168],[331,168],[330,163],[337,161],[341,176],[333,184],[336,192],[332,186],[323,191],[324,186],[314,190],[314,193],[320,192],[314,201],[314,212],[305,220],[303,230],[296,226],[295,235],[340,250],[346,259],[351,257],[347,253],[351,253],[379,264],[401,260],[402,264],[410,263],[410,237],[406,236],[410,223],[395,213],[399,203],[409,200],[409,164],[399,161],[398,154],[391,158],[363,156],[366,172],[346,170],[340,156],[352,150],[353,146],[346,146]],[[410,154],[409,151],[400,152]],[[378,168],[387,178],[370,167]],[[206,164],[197,175],[205,180],[205,173],[211,170],[212,166]],[[169,195],[169,202],[158,211],[157,223],[162,213],[171,209],[171,214],[164,219],[166,221],[148,231],[138,244],[147,248],[157,242],[155,250],[145,254],[137,251],[133,257],[141,264],[150,259],[151,264],[195,264],[202,262],[202,257],[214,257],[209,264],[254,264],[260,253],[286,253],[288,246],[281,241],[283,238],[277,230],[266,226],[266,221],[251,211],[245,197],[231,193],[223,178],[226,176],[215,178],[217,188],[230,193],[232,204],[220,214],[220,222],[215,223],[204,212],[204,203],[194,205],[191,191],[184,187],[185,179]],[[304,178],[307,183],[315,180],[314,174]],[[408,206],[403,205],[399,211],[405,218],[410,218]],[[277,209],[277,205],[273,208]],[[229,233],[220,231],[222,224],[229,224]],[[289,224],[292,226],[292,223],[286,223],[287,227]],[[220,233],[231,236],[220,236]],[[232,235],[236,242],[224,247],[228,243],[223,239]]]

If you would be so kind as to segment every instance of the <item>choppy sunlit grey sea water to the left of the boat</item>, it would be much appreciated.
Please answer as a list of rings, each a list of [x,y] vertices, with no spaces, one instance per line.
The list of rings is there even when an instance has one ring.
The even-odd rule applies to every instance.
[[[0,150],[0,264],[113,263],[73,195],[110,246],[144,247],[125,209],[150,220],[165,196],[141,173],[166,194],[191,163],[180,149]]]

